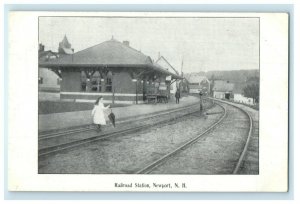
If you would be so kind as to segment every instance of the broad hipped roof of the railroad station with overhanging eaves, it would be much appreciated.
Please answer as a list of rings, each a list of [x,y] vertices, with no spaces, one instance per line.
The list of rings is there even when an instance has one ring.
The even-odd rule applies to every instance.
[[[78,51],[71,55],[65,55],[57,59],[39,61],[40,67],[67,68],[67,67],[129,67],[150,68],[174,79],[181,77],[173,74],[158,64],[154,64],[149,56],[135,50],[128,44],[111,39],[95,46]]]

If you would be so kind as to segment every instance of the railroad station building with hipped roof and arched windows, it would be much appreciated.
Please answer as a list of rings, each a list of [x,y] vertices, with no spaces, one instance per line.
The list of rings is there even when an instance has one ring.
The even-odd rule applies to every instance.
[[[68,44],[63,40],[62,44]],[[61,44],[60,44],[61,47]],[[62,46],[66,47],[66,46]],[[147,94],[170,95],[170,84],[182,79],[142,52],[129,41],[105,41],[76,53],[39,60],[60,78],[60,98],[94,102],[99,96],[109,103],[143,103]]]

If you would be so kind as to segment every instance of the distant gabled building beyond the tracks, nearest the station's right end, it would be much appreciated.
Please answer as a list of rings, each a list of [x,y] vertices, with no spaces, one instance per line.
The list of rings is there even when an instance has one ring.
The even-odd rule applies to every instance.
[[[210,82],[206,76],[199,74],[191,74],[188,78],[189,93],[210,93]]]

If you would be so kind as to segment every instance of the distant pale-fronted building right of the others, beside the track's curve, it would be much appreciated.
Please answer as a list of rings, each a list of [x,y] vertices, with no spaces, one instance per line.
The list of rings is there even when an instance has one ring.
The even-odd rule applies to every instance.
[[[214,81],[213,97],[219,99],[233,98],[234,84],[229,81],[216,80]]]

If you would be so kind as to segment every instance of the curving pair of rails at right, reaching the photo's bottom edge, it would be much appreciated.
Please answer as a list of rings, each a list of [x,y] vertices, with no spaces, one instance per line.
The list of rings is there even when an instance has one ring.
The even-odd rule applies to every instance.
[[[223,103],[225,103],[225,102],[223,102]],[[227,109],[220,103],[216,103],[216,104],[218,104],[223,109],[223,115],[221,116],[221,118],[219,120],[217,120],[214,124],[212,124],[207,130],[205,130],[201,134],[186,141],[184,144],[180,145],[179,147],[177,147],[176,149],[172,150],[171,152],[165,154],[164,156],[160,157],[159,159],[153,161],[152,163],[146,165],[144,168],[138,170],[135,173],[136,174],[150,174],[155,169],[162,166],[166,161],[170,160],[175,155],[179,154],[183,150],[187,149],[188,147],[190,147],[191,145],[193,145],[194,143],[199,141],[200,138],[204,137],[205,135],[210,133],[213,129],[215,129],[218,125],[220,125],[222,122],[224,122],[224,119],[226,118],[226,115],[227,115]],[[248,149],[248,146],[250,143],[250,139],[251,139],[251,135],[252,135],[252,128],[253,128],[253,119],[252,119],[251,115],[248,112],[246,112],[245,110],[243,110],[242,108],[232,105],[230,103],[227,103],[227,104],[241,110],[245,115],[247,115],[248,120],[249,120],[249,130],[248,130],[248,134],[247,134],[247,140],[245,142],[243,151],[241,152],[241,154],[239,156],[238,162],[236,163],[235,168],[232,172],[232,174],[237,174],[241,168],[242,161],[244,160],[245,154],[247,152],[247,149]]]

